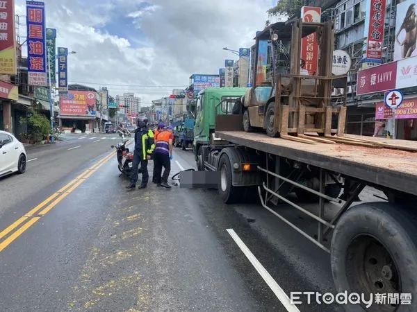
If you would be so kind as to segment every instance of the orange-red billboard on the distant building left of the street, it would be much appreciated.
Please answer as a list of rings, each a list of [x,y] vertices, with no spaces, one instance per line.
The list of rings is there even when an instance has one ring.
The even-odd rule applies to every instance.
[[[60,98],[60,114],[72,116],[96,115],[95,92],[68,91],[68,96]]]

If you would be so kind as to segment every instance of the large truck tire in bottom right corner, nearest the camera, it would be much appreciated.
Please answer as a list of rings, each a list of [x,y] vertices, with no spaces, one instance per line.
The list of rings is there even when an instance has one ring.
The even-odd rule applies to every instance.
[[[416,214],[389,202],[347,210],[332,237],[332,275],[337,292],[409,293],[417,296]],[[375,299],[375,298],[374,298]],[[344,306],[345,311],[416,311],[416,306]]]

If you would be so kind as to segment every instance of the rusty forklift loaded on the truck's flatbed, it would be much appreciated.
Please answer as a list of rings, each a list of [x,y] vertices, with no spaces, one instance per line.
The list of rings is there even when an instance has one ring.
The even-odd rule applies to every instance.
[[[313,33],[316,33],[320,56],[317,73],[310,75],[302,68],[305,60],[301,58],[301,50],[302,38]],[[248,88],[242,98],[243,130],[263,129],[270,137],[311,144],[314,141],[329,143],[325,137],[332,135],[343,136],[347,76],[332,74],[333,21],[317,23],[291,19],[271,24],[254,39],[253,87]],[[259,44],[265,40],[271,46],[270,81],[260,64],[263,60]],[[334,88],[343,89],[343,94],[332,96]]]

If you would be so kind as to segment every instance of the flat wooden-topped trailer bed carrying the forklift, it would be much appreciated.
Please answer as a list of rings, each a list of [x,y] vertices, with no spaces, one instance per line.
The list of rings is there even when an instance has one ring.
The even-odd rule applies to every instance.
[[[243,131],[216,131],[215,136],[233,144],[417,196],[417,153],[411,151],[345,144],[304,144]],[[381,141],[373,137],[361,138]],[[417,149],[417,142],[414,141],[391,140],[390,144],[394,142]]]

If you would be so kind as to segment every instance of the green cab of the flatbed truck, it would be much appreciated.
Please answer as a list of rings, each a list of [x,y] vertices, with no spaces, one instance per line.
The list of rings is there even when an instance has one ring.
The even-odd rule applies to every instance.
[[[195,160],[201,154],[202,146],[212,144],[215,130],[215,116],[233,114],[234,103],[245,95],[247,88],[206,88],[199,92],[195,105],[193,150]]]

